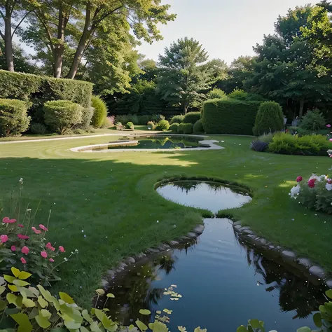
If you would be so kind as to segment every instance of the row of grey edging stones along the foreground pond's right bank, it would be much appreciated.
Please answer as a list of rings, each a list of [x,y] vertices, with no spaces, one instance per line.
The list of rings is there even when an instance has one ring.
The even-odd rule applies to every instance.
[[[257,248],[270,251],[273,256],[279,256],[283,261],[292,265],[298,270],[302,270],[305,275],[311,279],[324,280],[326,286],[332,289],[332,279],[326,278],[326,272],[319,265],[314,265],[309,258],[298,256],[295,252],[284,249],[280,246],[275,247],[271,242],[263,237],[258,237],[249,226],[242,226],[240,221],[233,223],[235,233],[245,242],[253,244]]]

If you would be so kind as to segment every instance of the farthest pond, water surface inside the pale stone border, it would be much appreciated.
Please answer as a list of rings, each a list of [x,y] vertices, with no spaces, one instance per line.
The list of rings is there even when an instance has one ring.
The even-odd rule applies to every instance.
[[[106,146],[96,146],[90,148],[92,151],[112,150],[115,148],[135,148],[135,149],[150,149],[150,148],[202,148],[199,144],[202,138],[198,137],[179,137],[179,136],[162,136],[162,137],[124,137],[122,142]]]

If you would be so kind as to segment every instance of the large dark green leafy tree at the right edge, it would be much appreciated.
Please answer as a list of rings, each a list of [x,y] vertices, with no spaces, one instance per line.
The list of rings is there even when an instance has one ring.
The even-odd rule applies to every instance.
[[[303,36],[316,8],[296,7],[284,18],[279,17],[275,24],[277,34],[264,36],[263,45],[254,48],[257,54],[254,74],[244,83],[253,92],[284,104],[288,99],[297,102],[300,117],[306,102],[332,99],[331,69],[317,62],[314,46]],[[329,25],[326,20],[320,23]]]

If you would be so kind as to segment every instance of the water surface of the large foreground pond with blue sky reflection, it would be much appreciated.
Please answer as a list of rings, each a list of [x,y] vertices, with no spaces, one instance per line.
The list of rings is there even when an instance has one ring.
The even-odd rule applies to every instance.
[[[197,245],[154,256],[113,279],[109,291],[116,298],[106,304],[111,316],[124,324],[137,318],[148,323],[151,317],[140,309],[167,307],[174,310],[171,331],[220,331],[221,320],[223,331],[236,331],[254,318],[268,331],[313,327],[311,314],[324,303],[324,289],[238,240],[228,219],[205,219],[205,226]],[[171,284],[183,296],[177,302],[162,295]]]

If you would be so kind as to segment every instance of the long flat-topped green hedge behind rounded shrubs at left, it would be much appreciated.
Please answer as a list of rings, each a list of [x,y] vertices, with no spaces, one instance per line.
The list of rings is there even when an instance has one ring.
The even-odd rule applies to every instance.
[[[89,82],[0,70],[0,98],[30,100],[34,104],[69,100],[88,108],[91,96]]]

